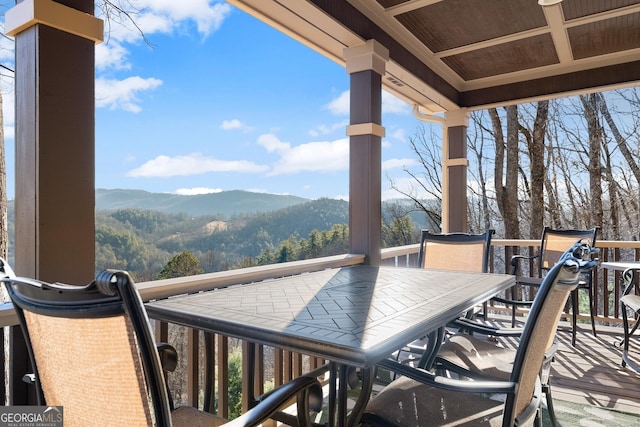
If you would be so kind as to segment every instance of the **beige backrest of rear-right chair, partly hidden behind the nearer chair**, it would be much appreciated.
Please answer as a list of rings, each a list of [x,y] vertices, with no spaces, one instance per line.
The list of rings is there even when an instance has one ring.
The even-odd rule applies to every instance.
[[[597,228],[588,230],[554,230],[550,227],[545,227],[542,231],[542,241],[540,242],[538,277],[542,277],[544,273],[556,265],[565,251],[577,241],[588,243],[591,247],[595,247],[597,231]]]

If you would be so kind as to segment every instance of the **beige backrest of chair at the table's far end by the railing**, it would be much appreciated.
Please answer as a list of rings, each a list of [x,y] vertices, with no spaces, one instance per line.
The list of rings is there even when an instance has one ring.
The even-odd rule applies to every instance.
[[[418,266],[486,273],[493,233],[493,230],[487,230],[482,234],[436,234],[422,230]]]

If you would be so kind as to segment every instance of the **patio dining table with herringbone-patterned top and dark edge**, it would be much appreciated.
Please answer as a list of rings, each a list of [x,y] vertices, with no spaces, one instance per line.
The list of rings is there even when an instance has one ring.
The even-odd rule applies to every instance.
[[[146,309],[154,319],[327,360],[328,424],[345,426],[364,410],[378,361],[513,284],[505,274],[357,265],[153,301]],[[353,367],[362,372],[362,391],[349,411]]]

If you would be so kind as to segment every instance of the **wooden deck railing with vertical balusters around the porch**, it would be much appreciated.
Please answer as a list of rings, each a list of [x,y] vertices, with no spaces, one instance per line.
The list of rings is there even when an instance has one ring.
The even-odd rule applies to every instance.
[[[538,250],[537,240],[504,240],[494,239],[492,242],[491,268],[494,272],[509,272],[509,260],[513,253],[533,254]],[[600,248],[600,259],[602,261],[614,260],[640,260],[640,242],[616,242],[601,241],[597,247]],[[383,263],[386,265],[396,265],[399,267],[413,267],[417,265],[418,245],[407,245],[395,248],[388,248],[382,251]],[[269,266],[251,267],[238,270],[231,270],[219,273],[203,274],[198,276],[184,277],[180,279],[168,279],[153,282],[139,283],[140,294],[145,301],[167,298],[170,296],[199,292],[208,289],[220,288],[243,283],[267,280],[270,278],[287,275],[301,274],[304,272],[321,270],[325,268],[336,268],[348,265],[355,265],[364,262],[362,255],[339,255],[326,258],[318,258],[306,261],[296,261],[284,264]],[[594,296],[597,306],[597,321],[604,324],[618,324],[620,322],[619,298],[622,292],[619,274],[612,274],[605,269],[596,269],[594,273]],[[500,310],[500,307],[494,307]],[[579,318],[588,319],[588,313],[580,313]],[[0,326],[17,325],[17,317],[10,304],[0,306]],[[178,328],[172,325],[171,328]],[[181,374],[175,375],[171,381],[173,391],[179,393],[174,396],[177,403],[198,407],[205,407],[212,412],[228,416],[229,414],[229,385],[234,378],[229,377],[229,360],[232,349],[246,351],[249,343],[238,343],[236,340],[220,335],[205,336],[198,331],[182,328],[179,334],[170,336],[169,325],[156,322],[156,337],[160,341],[169,341],[169,338],[179,339],[181,342],[171,342],[179,349],[182,349],[181,359],[184,363],[184,370]],[[257,347],[258,366],[256,366],[256,390],[259,394],[265,388],[273,385],[277,386],[290,379],[301,375],[304,372],[318,368],[323,361],[309,356],[294,354],[288,351]],[[204,378],[204,369],[201,369],[205,351],[215,354],[216,369],[209,372],[216,377]],[[5,351],[6,354],[6,351]],[[11,366],[11,365],[9,365]],[[246,371],[246,366],[242,366]],[[4,370],[3,370],[4,371]],[[203,392],[205,381],[213,382],[217,386],[217,392],[208,402],[204,401]],[[246,390],[246,383],[243,382],[243,390]],[[4,393],[3,393],[4,394]],[[243,393],[244,396],[248,393]],[[9,400],[12,404],[24,404],[28,402],[18,402]],[[248,403],[243,401],[243,410],[247,409]]]

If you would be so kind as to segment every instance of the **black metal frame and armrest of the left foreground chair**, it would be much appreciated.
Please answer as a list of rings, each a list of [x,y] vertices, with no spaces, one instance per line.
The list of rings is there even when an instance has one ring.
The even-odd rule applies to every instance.
[[[2,277],[4,276],[4,277]],[[153,406],[152,414],[156,426],[171,426],[172,404],[164,380],[161,357],[149,327],[149,319],[133,280],[124,271],[106,270],[85,286],[62,283],[46,283],[35,279],[15,277],[6,261],[0,259],[0,281],[11,297],[18,314],[27,343],[27,350],[34,370],[36,396],[39,405],[46,405],[40,385],[38,364],[27,328],[25,311],[64,318],[103,318],[122,315],[130,319],[138,342],[147,391]],[[108,345],[108,343],[105,343]],[[160,344],[164,347],[164,344]],[[174,350],[175,351],[175,350]],[[63,369],[70,369],[69,366]],[[298,397],[298,425],[308,423],[309,410],[320,410],[322,388],[317,378],[300,376],[275,390],[256,398],[252,409],[234,420],[234,425],[258,425],[274,415],[292,398]],[[98,398],[87,396],[88,399]]]

